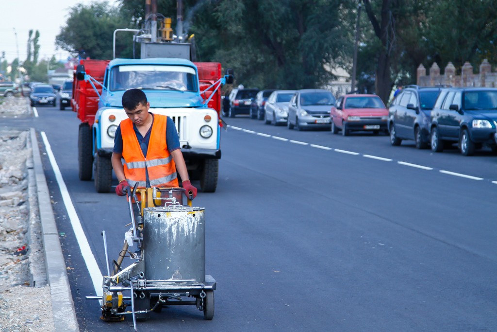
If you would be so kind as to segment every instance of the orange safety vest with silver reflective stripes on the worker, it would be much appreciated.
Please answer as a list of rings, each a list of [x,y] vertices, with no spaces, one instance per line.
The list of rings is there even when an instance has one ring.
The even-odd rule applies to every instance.
[[[151,187],[179,187],[176,165],[167,150],[166,127],[167,116],[154,114],[147,157],[145,157],[133,129],[133,122],[129,118],[121,121],[122,163],[124,176],[131,188],[137,182],[138,188],[146,188],[145,169],[148,170]]]

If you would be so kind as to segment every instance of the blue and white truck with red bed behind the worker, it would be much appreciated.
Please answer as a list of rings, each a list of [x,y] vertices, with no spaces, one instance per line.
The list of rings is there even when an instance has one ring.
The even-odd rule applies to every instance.
[[[165,22],[163,30],[170,32],[170,19]],[[146,33],[150,30],[157,29],[114,31],[114,45],[117,31],[136,32],[134,41],[141,43],[141,59],[87,59],[77,65],[72,106],[82,121],[79,178],[84,181],[93,176],[99,193],[111,190],[114,134],[120,121],[127,118],[121,98],[127,89],[139,88],[146,93],[152,113],[174,121],[190,177],[200,180],[203,192],[214,192],[223,125],[220,87],[233,82],[233,71],[228,69],[222,75],[220,63],[192,62],[189,43],[168,41],[169,35],[157,41],[154,33]]]

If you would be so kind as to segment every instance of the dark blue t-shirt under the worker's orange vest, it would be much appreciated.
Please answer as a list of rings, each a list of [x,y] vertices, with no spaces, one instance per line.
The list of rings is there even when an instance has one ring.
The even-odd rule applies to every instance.
[[[150,113],[150,112],[149,112]],[[152,125],[149,128],[149,131],[145,134],[145,137],[142,136],[136,125],[133,123],[133,129],[135,130],[136,138],[138,138],[138,143],[140,144],[140,147],[142,148],[143,155],[147,157],[147,150],[149,148],[149,140],[150,140],[150,133],[152,132],[152,126],[154,125],[154,120],[153,116],[154,113],[152,114]],[[166,144],[167,144],[167,150],[169,152],[172,152],[174,150],[177,150],[180,148],[179,146],[179,136],[178,132],[176,131],[176,126],[174,125],[174,121],[167,116],[167,127],[166,127]],[[112,149],[113,152],[115,153],[122,153],[123,152],[123,137],[121,134],[121,124],[117,126],[116,134],[114,136],[114,148]]]

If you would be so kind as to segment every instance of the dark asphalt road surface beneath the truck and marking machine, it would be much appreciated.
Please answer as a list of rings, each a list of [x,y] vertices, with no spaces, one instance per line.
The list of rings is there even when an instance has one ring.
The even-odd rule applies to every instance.
[[[100,234],[106,230],[117,255],[129,222],[125,199],[78,179],[76,114],[38,112],[1,125],[46,132],[104,272]],[[218,190],[193,202],[206,209],[214,320],[178,306],[138,323],[139,331],[497,331],[490,149],[434,154],[414,142],[393,147],[384,134],[226,121]],[[44,166],[80,329],[131,330],[129,318],[100,321],[98,302],[84,299],[95,290],[47,158]]]

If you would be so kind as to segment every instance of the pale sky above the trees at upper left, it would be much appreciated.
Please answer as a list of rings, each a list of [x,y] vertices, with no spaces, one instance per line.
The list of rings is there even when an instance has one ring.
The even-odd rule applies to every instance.
[[[50,59],[52,55],[55,55],[57,60],[66,60],[70,54],[61,49],[56,50],[55,36],[60,33],[61,27],[66,25],[70,7],[78,3],[88,5],[91,2],[103,2],[103,0],[2,0],[0,57],[1,51],[5,51],[8,63],[17,58],[15,37],[17,33],[19,58],[24,61],[27,56],[28,34],[32,29],[33,36],[36,30],[40,32],[39,60]],[[114,3],[114,1],[108,2]]]

